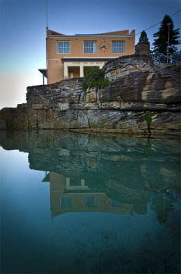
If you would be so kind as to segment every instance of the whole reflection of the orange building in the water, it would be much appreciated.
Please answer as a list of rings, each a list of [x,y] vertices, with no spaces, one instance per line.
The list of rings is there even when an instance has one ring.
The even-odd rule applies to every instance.
[[[133,205],[114,201],[105,192],[93,192],[85,179],[50,172],[42,182],[50,182],[52,217],[66,212],[133,214]]]

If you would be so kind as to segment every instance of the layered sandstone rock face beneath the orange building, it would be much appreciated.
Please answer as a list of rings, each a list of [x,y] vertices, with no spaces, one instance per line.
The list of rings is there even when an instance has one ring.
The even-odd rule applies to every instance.
[[[27,103],[4,108],[8,128],[152,134],[180,132],[181,68],[159,69],[148,55],[107,62],[109,85],[82,90],[83,78],[27,88]]]

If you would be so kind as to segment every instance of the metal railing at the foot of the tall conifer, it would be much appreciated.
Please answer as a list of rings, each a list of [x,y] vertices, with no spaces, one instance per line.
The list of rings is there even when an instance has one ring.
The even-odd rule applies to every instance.
[[[173,66],[176,66],[176,64],[180,64],[181,65],[181,62],[178,61],[178,57],[180,56],[180,54],[176,54],[174,56],[167,56],[167,55],[164,55],[163,53],[159,53],[157,51],[154,51],[152,53],[152,60],[154,62],[159,62],[159,64],[173,64]]]

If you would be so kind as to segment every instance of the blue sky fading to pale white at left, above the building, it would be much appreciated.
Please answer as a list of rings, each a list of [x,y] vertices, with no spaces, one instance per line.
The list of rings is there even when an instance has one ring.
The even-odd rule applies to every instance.
[[[62,34],[140,32],[181,9],[181,0],[47,0],[48,28]],[[171,17],[181,26],[181,12]],[[150,45],[160,24],[146,30]],[[46,0],[0,0],[0,109],[26,102],[46,69]],[[178,46],[181,49],[181,45]]]

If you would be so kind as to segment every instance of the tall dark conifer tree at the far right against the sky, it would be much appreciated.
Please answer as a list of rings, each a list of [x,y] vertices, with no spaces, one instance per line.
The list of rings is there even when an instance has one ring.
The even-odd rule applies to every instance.
[[[171,25],[167,25],[170,23]],[[180,32],[179,29],[173,29],[173,21],[169,15],[165,15],[163,21],[161,21],[161,26],[154,34],[154,37],[158,37],[154,39],[153,46],[154,51],[158,51],[159,53],[163,53],[167,55],[167,47],[168,47],[168,32],[169,32],[169,53],[173,54],[176,52],[176,45],[180,44]]]

